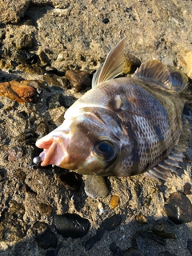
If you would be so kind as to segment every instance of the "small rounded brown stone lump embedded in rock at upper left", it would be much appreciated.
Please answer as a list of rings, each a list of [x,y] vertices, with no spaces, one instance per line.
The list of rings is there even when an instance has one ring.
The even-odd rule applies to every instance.
[[[34,38],[32,37],[31,34],[26,34],[25,32],[22,32],[17,35],[17,38],[15,40],[15,46],[18,50],[33,48]]]

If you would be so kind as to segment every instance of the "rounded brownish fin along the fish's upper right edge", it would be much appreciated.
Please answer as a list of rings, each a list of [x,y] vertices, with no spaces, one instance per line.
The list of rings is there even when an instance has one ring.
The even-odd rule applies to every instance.
[[[166,66],[158,60],[143,63],[135,71],[134,76],[138,78],[150,78],[154,82],[160,83],[166,90],[174,90],[178,93],[182,92],[188,83],[188,78],[182,71],[174,66]]]

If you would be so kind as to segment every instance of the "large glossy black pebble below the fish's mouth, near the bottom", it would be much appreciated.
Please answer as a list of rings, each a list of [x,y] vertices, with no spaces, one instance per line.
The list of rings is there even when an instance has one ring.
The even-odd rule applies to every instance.
[[[90,222],[78,214],[54,215],[54,225],[64,238],[82,238],[90,228]]]

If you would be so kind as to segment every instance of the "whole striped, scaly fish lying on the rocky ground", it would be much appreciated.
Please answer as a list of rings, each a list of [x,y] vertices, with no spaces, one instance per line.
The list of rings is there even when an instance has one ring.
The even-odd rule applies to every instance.
[[[190,134],[182,114],[191,100],[188,78],[158,60],[142,63],[134,76],[118,77],[125,41],[110,50],[92,89],[66,110],[62,125],[38,139],[41,166],[100,176],[144,173],[157,180],[180,167]]]

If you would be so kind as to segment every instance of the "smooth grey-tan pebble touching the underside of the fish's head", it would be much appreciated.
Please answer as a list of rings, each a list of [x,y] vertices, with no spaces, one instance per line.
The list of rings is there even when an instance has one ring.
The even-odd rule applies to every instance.
[[[106,198],[109,194],[106,180],[102,176],[87,175],[85,181],[85,192],[90,198]]]

